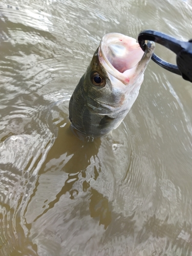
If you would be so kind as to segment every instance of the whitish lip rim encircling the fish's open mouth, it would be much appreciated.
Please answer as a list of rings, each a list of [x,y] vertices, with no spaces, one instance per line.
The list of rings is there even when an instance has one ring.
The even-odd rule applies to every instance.
[[[122,38],[122,39],[120,39]],[[119,72],[113,65],[112,63],[109,61],[108,57],[106,56],[106,49],[108,48],[108,46],[110,44],[112,44],[113,42],[117,42],[117,41],[122,41],[123,39],[128,39],[130,40],[132,43],[134,43],[135,47],[138,47],[138,52],[140,52],[140,58],[138,59],[138,62],[136,63],[136,66],[134,66],[132,69],[129,69],[130,72],[133,71],[134,69],[136,69],[139,61],[141,60],[142,56],[143,56],[143,51],[140,48],[138,42],[136,41],[135,38],[133,37],[129,37],[120,33],[109,33],[103,36],[103,38],[100,41],[100,45],[99,45],[99,49],[98,49],[98,58],[99,61],[101,63],[101,65],[104,67],[104,69],[106,71],[108,71],[112,76],[114,76],[115,78],[117,78],[118,80],[120,80],[122,83],[124,83],[125,85],[130,83],[130,78],[132,78],[131,75],[125,75],[121,72]]]

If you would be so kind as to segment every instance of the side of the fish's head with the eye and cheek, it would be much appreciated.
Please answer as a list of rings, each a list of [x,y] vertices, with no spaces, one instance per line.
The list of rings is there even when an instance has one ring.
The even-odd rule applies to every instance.
[[[117,86],[114,77],[110,76],[101,65],[98,52],[99,48],[84,74],[84,100],[92,113],[109,115],[122,105],[124,93]]]

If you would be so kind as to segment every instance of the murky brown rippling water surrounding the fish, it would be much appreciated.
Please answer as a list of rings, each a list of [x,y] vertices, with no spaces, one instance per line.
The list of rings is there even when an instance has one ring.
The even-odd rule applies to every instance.
[[[190,0],[0,2],[0,255],[192,255],[192,84],[151,61],[105,138],[76,138],[68,112],[104,34],[188,40],[191,13]]]

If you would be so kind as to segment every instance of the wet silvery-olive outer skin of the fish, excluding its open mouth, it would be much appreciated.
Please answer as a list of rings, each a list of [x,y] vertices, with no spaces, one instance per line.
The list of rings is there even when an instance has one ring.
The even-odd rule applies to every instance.
[[[108,135],[116,129],[138,96],[143,72],[151,59],[153,50],[154,45],[152,44],[151,47],[146,47],[142,59],[135,67],[134,75],[136,74],[137,77],[132,79],[132,84],[128,82],[127,86],[124,80],[118,76],[120,72],[117,72],[114,77],[113,72],[110,74],[103,67],[100,44],[70,99],[69,118],[72,127],[94,137]],[[96,82],[94,81],[95,76]],[[120,86],[119,84],[116,86],[116,82]]]

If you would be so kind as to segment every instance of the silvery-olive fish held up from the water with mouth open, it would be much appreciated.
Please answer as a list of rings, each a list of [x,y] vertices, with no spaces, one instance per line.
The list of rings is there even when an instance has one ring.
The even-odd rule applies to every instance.
[[[111,134],[135,102],[154,49],[152,41],[143,52],[135,38],[105,34],[70,98],[71,128],[92,137]]]

